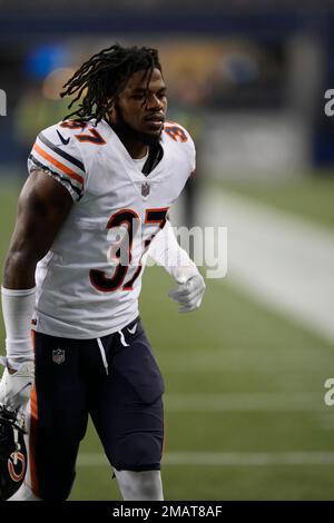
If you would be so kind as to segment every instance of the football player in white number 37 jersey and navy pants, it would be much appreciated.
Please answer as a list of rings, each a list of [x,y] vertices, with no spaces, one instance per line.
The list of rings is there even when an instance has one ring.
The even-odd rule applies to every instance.
[[[65,95],[79,106],[37,137],[4,268],[0,404],[16,413],[29,398],[28,471],[11,500],[69,496],[89,415],[124,500],[163,500],[164,383],[138,296],[149,254],[177,282],[179,310],[200,305],[204,279],[168,220],[195,147],[165,119],[155,49],[102,50]]]

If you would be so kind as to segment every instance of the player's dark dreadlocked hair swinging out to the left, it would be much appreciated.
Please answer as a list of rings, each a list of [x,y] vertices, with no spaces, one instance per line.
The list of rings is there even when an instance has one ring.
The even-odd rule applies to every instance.
[[[76,117],[73,119],[87,121],[94,118],[96,125],[102,118],[108,120],[115,98],[124,90],[131,75],[143,70],[148,85],[155,68],[161,70],[156,49],[136,46],[124,48],[118,43],[102,49],[82,63],[63,86],[61,98],[75,95],[68,109],[85,92],[79,108],[63,119]]]

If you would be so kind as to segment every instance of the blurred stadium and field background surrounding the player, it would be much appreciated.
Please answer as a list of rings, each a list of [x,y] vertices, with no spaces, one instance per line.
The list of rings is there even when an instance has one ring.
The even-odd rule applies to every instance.
[[[167,500],[334,499],[332,6],[0,0],[1,264],[36,135],[65,116],[71,71],[115,41],[160,50],[169,117],[197,144],[176,221],[228,227],[227,277],[207,280],[199,312],[179,316],[164,270],[145,275],[143,318],[167,388]],[[71,500],[110,499],[90,427]]]

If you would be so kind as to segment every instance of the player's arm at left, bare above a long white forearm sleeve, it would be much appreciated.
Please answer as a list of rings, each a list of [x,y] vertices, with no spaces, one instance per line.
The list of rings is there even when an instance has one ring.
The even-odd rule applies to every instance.
[[[14,369],[33,358],[36,266],[50,250],[71,206],[67,189],[38,171],[29,176],[21,191],[1,289],[7,365]]]

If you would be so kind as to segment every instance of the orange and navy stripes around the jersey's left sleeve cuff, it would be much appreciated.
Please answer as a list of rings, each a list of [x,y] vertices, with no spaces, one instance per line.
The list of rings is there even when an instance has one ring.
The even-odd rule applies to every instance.
[[[69,185],[80,198],[85,186],[85,166],[82,161],[52,144],[42,132],[37,137],[29,159],[37,167],[47,169],[60,181]]]

